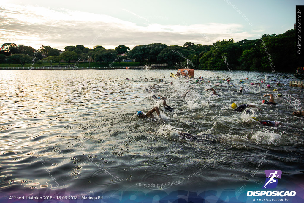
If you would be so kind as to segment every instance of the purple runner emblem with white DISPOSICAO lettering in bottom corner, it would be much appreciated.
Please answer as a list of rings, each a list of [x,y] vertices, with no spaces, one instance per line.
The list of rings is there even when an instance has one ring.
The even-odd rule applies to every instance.
[[[266,180],[262,189],[273,189],[276,188],[278,185],[278,178],[281,178],[282,171],[280,170],[264,170],[266,175]],[[293,197],[295,196],[295,191],[247,191],[248,196],[288,196]]]

